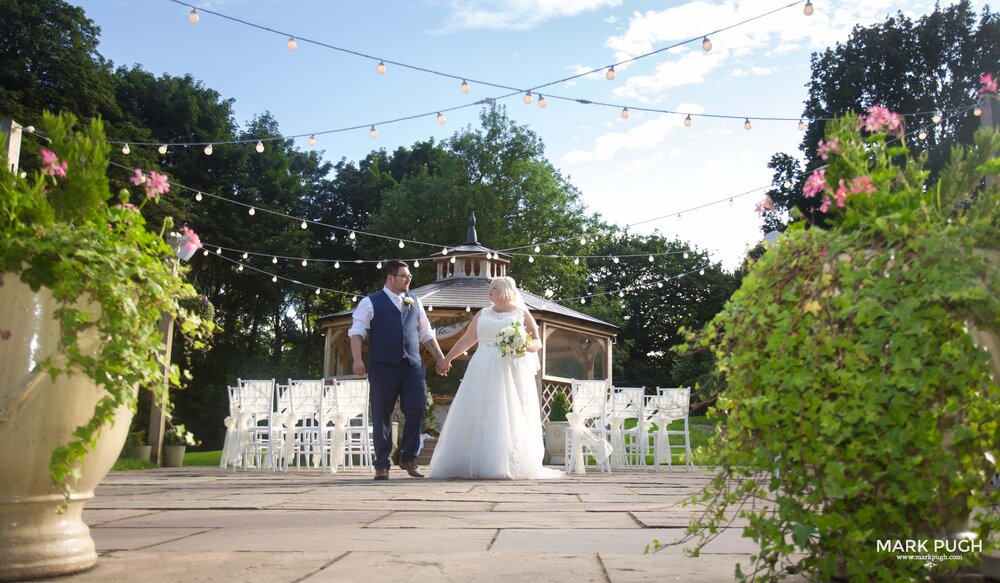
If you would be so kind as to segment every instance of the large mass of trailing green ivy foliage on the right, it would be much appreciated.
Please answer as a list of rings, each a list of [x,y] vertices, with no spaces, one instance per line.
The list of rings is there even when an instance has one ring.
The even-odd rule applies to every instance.
[[[834,203],[830,230],[792,225],[691,339],[727,380],[710,452],[720,469],[693,500],[706,505],[695,553],[742,517],[759,546],[745,577],[923,579],[926,565],[876,541],[972,530],[988,551],[1000,525],[982,511],[966,522],[1000,502],[986,488],[1000,387],[969,334],[1000,331],[1000,189],[982,186],[1000,135],[954,148],[926,186],[924,156],[857,124],[828,126],[839,147],[817,198],[857,178],[875,191]]]

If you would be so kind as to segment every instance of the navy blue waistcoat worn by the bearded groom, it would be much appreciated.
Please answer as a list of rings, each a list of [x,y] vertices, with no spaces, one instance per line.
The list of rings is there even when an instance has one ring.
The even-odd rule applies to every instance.
[[[405,295],[404,297],[410,297]],[[420,361],[420,337],[417,334],[417,304],[403,305],[399,312],[389,296],[379,290],[368,296],[373,315],[368,330],[368,353],[373,362],[399,364],[404,358],[417,366]]]

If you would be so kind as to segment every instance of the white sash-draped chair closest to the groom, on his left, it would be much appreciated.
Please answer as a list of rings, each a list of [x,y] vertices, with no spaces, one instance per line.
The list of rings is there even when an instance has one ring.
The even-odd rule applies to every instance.
[[[371,429],[368,424],[368,379],[334,379],[323,392],[325,441],[329,444],[330,471],[360,465],[374,471]]]

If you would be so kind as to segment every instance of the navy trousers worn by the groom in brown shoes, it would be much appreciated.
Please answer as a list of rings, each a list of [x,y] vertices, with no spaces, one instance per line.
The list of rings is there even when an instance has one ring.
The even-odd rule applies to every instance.
[[[399,444],[399,459],[417,459],[424,407],[427,406],[427,372],[423,363],[414,365],[407,359],[398,364],[372,362],[368,367],[369,400],[372,407],[372,429],[375,438],[375,467],[388,468],[392,451],[392,411],[399,399],[399,410],[406,416]]]

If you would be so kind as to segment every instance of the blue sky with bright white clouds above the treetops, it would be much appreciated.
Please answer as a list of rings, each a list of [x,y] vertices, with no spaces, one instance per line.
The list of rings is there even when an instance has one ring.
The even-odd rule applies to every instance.
[[[291,34],[470,79],[460,81],[389,64],[384,75],[371,60],[202,13],[169,0],[71,1],[102,29],[100,52],[116,65],[141,64],[154,74],[191,74],[235,99],[237,121],[271,112],[285,135],[375,124],[317,136],[332,161],[358,160],[377,148],[392,151],[418,140],[444,140],[478,123],[478,106],[434,113],[507,93],[473,82],[530,88],[577,72],[606,67],[770,12],[791,0],[209,0],[195,6]],[[945,2],[942,2],[943,4]],[[768,186],[775,152],[797,153],[795,121],[807,93],[809,56],[848,37],[855,24],[880,22],[902,10],[919,16],[933,3],[913,0],[815,0],[616,68],[541,90],[624,107],[739,116],[683,116],[581,105],[537,97],[525,105],[507,98],[508,113],[537,132],[549,160],[580,189],[592,212],[633,231],[654,229],[738,265],[746,246],[761,238],[755,193],[691,212],[688,209]],[[976,6],[981,8],[982,3]],[[429,113],[394,124],[379,122]],[[749,117],[752,129],[743,127]],[[114,136],[111,136],[114,138]],[[307,144],[303,138],[300,147]],[[188,185],[197,188],[198,185]],[[678,220],[677,214],[682,216]],[[658,218],[663,217],[663,218]],[[657,219],[652,220],[650,219]],[[637,224],[641,223],[641,224]],[[391,233],[389,233],[391,235]],[[434,241],[434,234],[426,240]],[[489,245],[489,241],[483,241]],[[530,242],[525,242],[530,243]],[[558,253],[557,249],[550,252]]]

